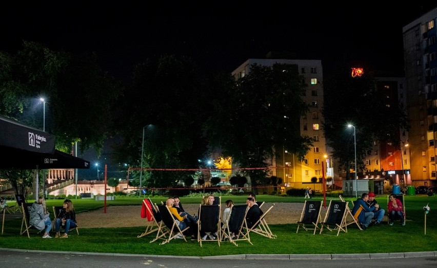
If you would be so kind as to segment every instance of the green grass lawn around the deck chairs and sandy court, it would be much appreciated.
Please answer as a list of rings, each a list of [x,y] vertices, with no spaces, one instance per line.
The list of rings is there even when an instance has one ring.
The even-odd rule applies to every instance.
[[[329,199],[327,198],[327,206]],[[160,203],[166,197],[151,197],[155,203]],[[222,203],[232,199],[236,204],[245,202],[246,196],[222,196]],[[257,199],[267,203],[304,202],[303,197],[280,197],[259,195]],[[322,200],[316,196],[312,200]],[[339,198],[333,198],[339,200]],[[347,198],[346,200],[354,200]],[[386,196],[377,196],[376,200],[382,208],[387,207]],[[31,202],[32,200],[28,200]],[[199,204],[199,197],[181,197],[183,204]],[[60,206],[63,200],[47,200],[47,206]],[[77,213],[102,208],[103,201],[93,199],[73,199]],[[429,203],[431,211],[426,217],[427,227],[424,234],[425,215],[423,207]],[[145,227],[135,228],[80,228],[80,236],[71,232],[68,239],[42,239],[40,234],[31,232],[29,239],[26,234],[19,235],[21,219],[9,220],[5,223],[5,232],[0,236],[1,248],[69,251],[69,252],[100,252],[100,253],[128,253],[173,256],[216,256],[230,254],[352,254],[352,253],[389,253],[389,252],[421,252],[437,250],[437,196],[405,196],[407,211],[406,226],[399,221],[394,226],[384,222],[380,227],[371,227],[360,231],[355,225],[348,226],[348,232],[325,231],[322,235],[317,232],[304,231],[301,228],[296,234],[296,224],[269,225],[277,239],[268,239],[251,233],[253,245],[247,241],[240,241],[239,247],[229,242],[222,242],[217,247],[215,242],[203,242],[201,248],[196,241],[187,242],[181,239],[171,240],[160,245],[157,240],[149,243],[156,233],[137,238],[145,231]],[[139,197],[116,197],[107,202],[107,206],[141,206]],[[322,215],[322,218],[325,215]],[[267,217],[268,222],[268,217]],[[181,247],[182,246],[182,247]],[[177,247],[178,250],[174,250]]]

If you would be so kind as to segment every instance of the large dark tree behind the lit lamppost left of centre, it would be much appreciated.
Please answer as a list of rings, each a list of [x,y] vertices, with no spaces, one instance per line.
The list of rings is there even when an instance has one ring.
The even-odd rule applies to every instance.
[[[114,148],[117,161],[152,169],[198,168],[197,160],[207,151],[202,123],[209,104],[196,100],[208,99],[205,88],[188,57],[164,55],[137,64],[132,86],[121,103],[123,113],[116,120],[122,137]],[[172,187],[182,175],[193,174],[152,170],[145,176],[145,184]]]

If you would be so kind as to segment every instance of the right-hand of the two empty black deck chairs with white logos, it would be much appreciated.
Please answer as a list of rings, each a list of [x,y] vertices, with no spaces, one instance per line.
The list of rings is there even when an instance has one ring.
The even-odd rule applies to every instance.
[[[323,227],[326,227],[329,231],[337,231],[337,236],[339,236],[340,231],[347,233],[347,224],[346,224],[346,207],[348,206],[348,202],[335,201],[331,200],[329,202],[328,211],[326,211],[325,219],[322,221],[320,233],[323,232]],[[329,226],[335,226],[331,228]]]

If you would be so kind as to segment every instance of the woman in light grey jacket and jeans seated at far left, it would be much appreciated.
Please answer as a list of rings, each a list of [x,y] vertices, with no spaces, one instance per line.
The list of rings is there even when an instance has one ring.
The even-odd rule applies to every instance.
[[[43,238],[52,238],[49,235],[52,229],[52,221],[50,220],[50,213],[47,211],[46,199],[39,196],[30,209],[29,223],[38,230],[44,230]]]

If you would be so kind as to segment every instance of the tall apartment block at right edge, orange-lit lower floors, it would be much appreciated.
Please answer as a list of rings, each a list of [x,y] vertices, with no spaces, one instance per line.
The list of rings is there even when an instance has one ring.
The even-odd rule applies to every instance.
[[[403,27],[409,152],[414,186],[435,186],[437,8]]]

